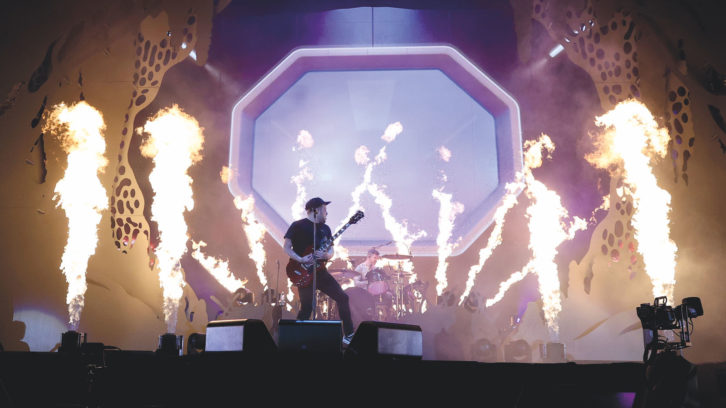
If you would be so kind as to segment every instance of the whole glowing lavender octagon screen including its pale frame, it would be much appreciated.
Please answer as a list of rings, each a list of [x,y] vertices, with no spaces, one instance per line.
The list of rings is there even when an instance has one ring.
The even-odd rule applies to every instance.
[[[516,101],[447,46],[298,49],[232,111],[229,189],[254,197],[279,243],[320,196],[334,230],[365,212],[338,241],[351,255],[395,253],[392,230],[405,228],[413,255],[434,256],[438,191],[460,203],[457,255],[521,168]]]

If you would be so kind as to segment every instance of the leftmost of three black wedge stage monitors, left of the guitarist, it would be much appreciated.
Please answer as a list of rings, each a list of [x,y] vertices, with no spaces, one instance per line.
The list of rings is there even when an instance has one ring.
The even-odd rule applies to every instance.
[[[275,342],[257,319],[215,320],[207,324],[204,350],[274,352]]]

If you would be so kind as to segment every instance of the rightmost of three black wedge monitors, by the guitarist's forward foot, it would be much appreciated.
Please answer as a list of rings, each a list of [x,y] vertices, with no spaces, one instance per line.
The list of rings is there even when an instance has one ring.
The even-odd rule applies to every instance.
[[[345,355],[420,360],[423,355],[421,327],[410,324],[361,322]]]

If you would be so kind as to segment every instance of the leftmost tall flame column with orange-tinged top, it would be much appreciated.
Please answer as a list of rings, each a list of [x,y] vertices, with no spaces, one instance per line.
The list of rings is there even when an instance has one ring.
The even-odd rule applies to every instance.
[[[68,217],[68,242],[60,268],[68,282],[66,303],[71,330],[78,329],[86,293],[88,259],[96,251],[101,211],[108,208],[106,190],[98,179],[108,161],[103,116],[86,102],[67,107],[56,105],[44,132],[58,135],[68,153],[68,168],[55,186],[53,196]]]

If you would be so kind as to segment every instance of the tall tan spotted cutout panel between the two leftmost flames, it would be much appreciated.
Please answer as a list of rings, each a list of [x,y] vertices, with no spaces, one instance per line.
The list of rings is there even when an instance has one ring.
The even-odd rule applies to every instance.
[[[172,45],[168,33],[155,35],[151,29],[142,28],[134,39],[133,92],[124,114],[124,126],[116,157],[110,217],[114,244],[124,253],[134,246],[139,234],[143,233],[151,241],[149,224],[143,214],[145,200],[128,161],[129,142],[133,137],[140,137],[134,135],[134,119],[156,97],[166,71],[186,58],[194,49],[197,18],[192,10],[189,10],[185,23],[181,30],[183,38],[179,42],[185,44],[185,48]],[[147,251],[151,249],[147,248]]]

